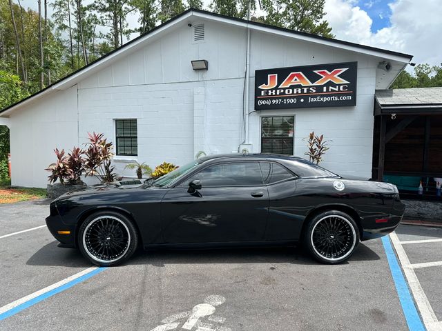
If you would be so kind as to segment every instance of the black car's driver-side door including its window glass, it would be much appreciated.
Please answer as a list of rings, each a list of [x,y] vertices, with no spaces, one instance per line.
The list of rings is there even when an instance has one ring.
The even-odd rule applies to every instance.
[[[202,188],[189,193],[189,182]],[[161,221],[166,243],[264,240],[269,194],[258,161],[215,163],[166,193]]]

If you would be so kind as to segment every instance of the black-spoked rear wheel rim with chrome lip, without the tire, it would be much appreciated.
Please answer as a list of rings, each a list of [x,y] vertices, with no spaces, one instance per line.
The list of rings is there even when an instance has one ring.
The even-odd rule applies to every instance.
[[[310,241],[311,248],[321,259],[338,262],[352,254],[358,237],[349,219],[338,214],[330,214],[314,223]]]

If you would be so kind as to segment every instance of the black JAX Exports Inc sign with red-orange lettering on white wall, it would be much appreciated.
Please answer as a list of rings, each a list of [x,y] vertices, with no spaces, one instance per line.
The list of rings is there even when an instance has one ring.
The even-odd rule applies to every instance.
[[[256,70],[255,110],[356,106],[357,62]]]

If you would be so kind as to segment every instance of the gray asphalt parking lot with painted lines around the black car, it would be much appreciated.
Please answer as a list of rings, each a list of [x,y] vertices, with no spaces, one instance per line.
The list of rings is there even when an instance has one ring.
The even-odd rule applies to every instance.
[[[0,330],[442,330],[442,228],[401,225],[392,237],[416,321],[381,239],[341,265],[259,248],[140,252],[91,268],[57,248],[47,214],[44,201],[0,205]]]

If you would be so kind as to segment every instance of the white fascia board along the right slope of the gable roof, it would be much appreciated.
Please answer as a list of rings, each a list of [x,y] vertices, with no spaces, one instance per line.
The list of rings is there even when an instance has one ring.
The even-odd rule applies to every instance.
[[[204,14],[202,12],[193,12],[193,16],[204,18],[204,19],[209,19],[211,21],[219,21],[222,23],[229,23],[234,26],[241,26],[242,28],[248,27],[251,30],[256,30],[256,31],[260,31],[260,32],[267,32],[270,34],[278,34],[280,36],[298,39],[298,40],[302,40],[302,41],[309,41],[311,43],[320,43],[321,45],[330,46],[330,47],[334,47],[334,48],[341,48],[343,50],[349,50],[351,52],[358,52],[358,53],[362,53],[362,54],[367,54],[367,55],[371,55],[373,57],[388,59],[391,61],[398,61],[398,62],[402,62],[402,63],[410,62],[410,58],[408,58],[408,57],[401,57],[401,56],[398,56],[395,54],[388,54],[386,52],[378,52],[376,50],[368,50],[366,48],[360,48],[357,46],[347,45],[347,44],[333,41],[333,39],[330,39],[330,40],[318,39],[318,38],[309,37],[309,36],[302,35],[302,34],[296,34],[296,33],[292,33],[292,32],[276,30],[271,27],[267,28],[265,26],[256,26],[254,24],[247,24],[242,21],[236,21],[235,19],[227,19],[224,17],[213,16],[211,14]]]

